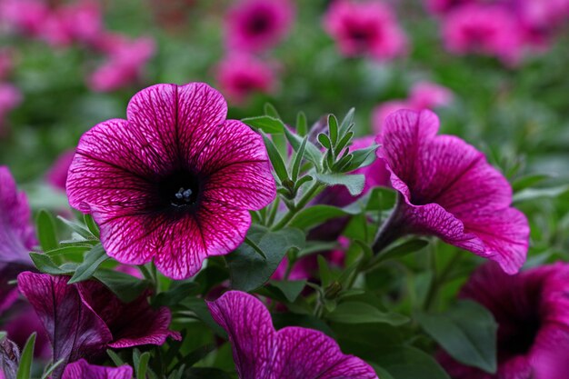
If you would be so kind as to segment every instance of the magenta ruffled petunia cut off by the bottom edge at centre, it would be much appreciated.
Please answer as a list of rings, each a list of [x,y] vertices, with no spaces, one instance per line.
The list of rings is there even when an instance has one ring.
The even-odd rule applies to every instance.
[[[207,306],[229,336],[241,379],[377,379],[372,367],[342,354],[322,332],[301,327],[275,331],[271,314],[251,294],[230,291]]]

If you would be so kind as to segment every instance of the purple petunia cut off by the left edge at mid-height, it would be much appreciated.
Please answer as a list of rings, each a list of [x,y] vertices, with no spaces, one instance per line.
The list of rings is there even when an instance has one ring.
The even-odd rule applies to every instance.
[[[37,244],[25,193],[18,192],[6,166],[0,166],[0,313],[18,297],[8,282],[34,267],[28,253]]]

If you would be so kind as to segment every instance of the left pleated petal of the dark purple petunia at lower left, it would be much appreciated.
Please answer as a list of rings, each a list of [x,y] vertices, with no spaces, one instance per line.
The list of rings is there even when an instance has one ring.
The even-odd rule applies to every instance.
[[[68,362],[96,357],[105,352],[112,335],[105,323],[85,308],[69,277],[33,274],[18,275],[18,287],[35,309],[54,348],[54,362],[63,359],[54,373],[61,377]]]

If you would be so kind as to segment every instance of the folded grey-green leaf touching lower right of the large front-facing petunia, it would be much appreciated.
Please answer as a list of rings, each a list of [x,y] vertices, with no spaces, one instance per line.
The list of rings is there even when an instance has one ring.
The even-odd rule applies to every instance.
[[[263,250],[266,259],[247,244],[242,244],[234,253],[226,256],[232,287],[245,292],[265,284],[291,248],[301,249],[304,246],[304,233],[295,228],[276,232],[252,228],[247,237]]]

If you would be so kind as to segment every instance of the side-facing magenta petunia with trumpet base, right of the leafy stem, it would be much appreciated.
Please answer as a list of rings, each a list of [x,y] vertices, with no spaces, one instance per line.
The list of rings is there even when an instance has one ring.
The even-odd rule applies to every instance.
[[[516,273],[527,254],[529,225],[510,207],[512,188],[484,154],[460,138],[436,135],[430,111],[387,117],[378,156],[400,200],[378,235],[375,251],[403,234],[434,234]]]

